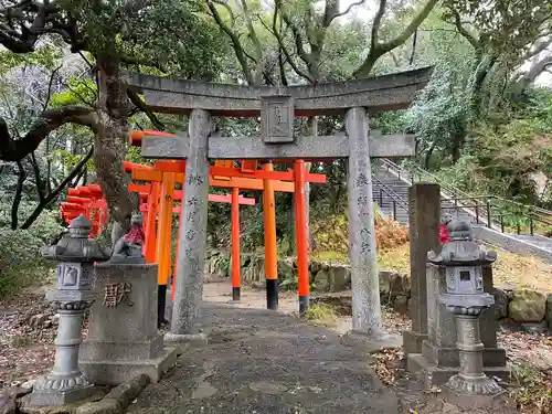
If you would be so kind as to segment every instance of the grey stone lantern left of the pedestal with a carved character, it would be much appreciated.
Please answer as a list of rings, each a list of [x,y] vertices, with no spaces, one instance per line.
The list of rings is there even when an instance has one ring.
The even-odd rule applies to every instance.
[[[78,348],[84,311],[92,306],[94,262],[106,261],[97,243],[88,238],[92,224],[84,215],[74,219],[68,232],[52,246],[41,250],[44,257],[56,259],[57,289],[46,294],[60,315],[52,371],[36,380],[29,395],[30,405],[65,405],[85,399],[94,388],[78,369]]]

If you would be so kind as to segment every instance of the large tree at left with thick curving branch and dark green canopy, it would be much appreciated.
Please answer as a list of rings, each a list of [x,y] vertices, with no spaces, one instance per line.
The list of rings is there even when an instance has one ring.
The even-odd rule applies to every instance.
[[[0,159],[19,162],[34,151],[50,132],[67,123],[86,126],[94,134],[94,164],[112,216],[128,225],[135,200],[128,192],[123,158],[132,107],[157,117],[125,82],[125,67],[212,78],[219,68],[222,42],[201,12],[200,1],[76,0],[0,1],[0,43],[12,53],[30,53],[40,42],[63,42],[85,59],[97,86],[91,106],[49,107],[14,136],[0,118]]]

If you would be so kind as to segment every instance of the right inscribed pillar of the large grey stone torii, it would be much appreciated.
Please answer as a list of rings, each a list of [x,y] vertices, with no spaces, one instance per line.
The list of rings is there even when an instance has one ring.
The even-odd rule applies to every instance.
[[[380,280],[375,256],[372,174],[364,108],[346,115],[349,136],[349,259],[351,263],[352,332],[382,336]]]

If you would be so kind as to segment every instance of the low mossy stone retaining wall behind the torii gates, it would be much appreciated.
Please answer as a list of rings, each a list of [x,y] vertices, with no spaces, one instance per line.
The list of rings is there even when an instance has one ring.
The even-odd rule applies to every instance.
[[[265,286],[264,257],[254,254],[242,256],[242,283]],[[208,258],[211,275],[230,277],[232,263],[230,253],[213,252]],[[295,258],[278,259],[280,289],[297,289],[297,263]],[[309,262],[310,290],[314,293],[338,293],[350,290],[351,273],[348,265],[329,262]],[[408,314],[411,285],[406,275],[380,270],[380,295],[383,304],[400,314]],[[331,301],[331,300],[330,300]],[[502,326],[512,329],[543,331],[552,330],[552,294],[530,289],[495,289],[495,315]]]

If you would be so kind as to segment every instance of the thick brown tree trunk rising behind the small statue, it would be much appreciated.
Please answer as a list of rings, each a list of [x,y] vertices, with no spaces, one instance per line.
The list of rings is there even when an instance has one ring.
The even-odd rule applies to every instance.
[[[94,135],[94,164],[112,219],[127,231],[136,208],[136,198],[128,191],[129,179],[123,170],[129,134],[127,87],[113,56],[98,56],[97,66],[99,125]]]

